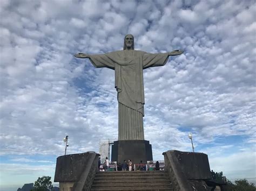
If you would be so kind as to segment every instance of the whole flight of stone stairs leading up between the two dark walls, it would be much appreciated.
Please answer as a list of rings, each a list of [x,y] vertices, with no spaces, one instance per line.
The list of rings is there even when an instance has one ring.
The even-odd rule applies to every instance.
[[[91,190],[174,190],[164,171],[97,172]]]

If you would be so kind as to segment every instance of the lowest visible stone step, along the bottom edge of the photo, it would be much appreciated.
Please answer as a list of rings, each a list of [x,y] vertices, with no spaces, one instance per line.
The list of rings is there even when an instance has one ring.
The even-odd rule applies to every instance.
[[[100,188],[91,188],[91,190],[151,190],[151,191],[158,191],[158,190],[168,190],[168,191],[174,191],[173,189],[171,189],[170,187],[166,187],[166,186],[157,186],[157,187],[133,187],[133,186],[127,186],[127,185],[123,185],[122,187],[112,187],[112,188],[105,188],[105,187],[100,187]]]

